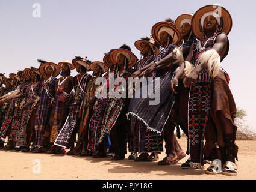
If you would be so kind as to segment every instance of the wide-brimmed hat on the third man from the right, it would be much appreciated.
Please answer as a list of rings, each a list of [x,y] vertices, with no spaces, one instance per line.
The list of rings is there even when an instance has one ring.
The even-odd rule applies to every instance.
[[[160,40],[159,40],[159,34],[161,31],[166,31],[170,36],[172,36],[172,43],[173,44],[178,44],[181,41],[181,34],[176,29],[175,25],[170,22],[158,22],[155,23],[155,25],[152,26],[151,29],[151,34],[152,37],[154,38],[154,41],[160,45]]]

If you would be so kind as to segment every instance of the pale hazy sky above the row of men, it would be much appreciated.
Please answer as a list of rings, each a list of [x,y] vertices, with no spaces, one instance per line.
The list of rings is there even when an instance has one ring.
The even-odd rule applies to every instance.
[[[41,6],[40,18],[33,17],[34,3]],[[237,107],[246,110],[248,124],[256,130],[255,0],[0,0],[0,73],[8,76],[31,65],[39,67],[37,58],[58,63],[79,55],[102,61],[105,52],[123,43],[139,58],[134,41],[151,35],[152,25],[216,3],[233,18],[223,68],[231,77]]]

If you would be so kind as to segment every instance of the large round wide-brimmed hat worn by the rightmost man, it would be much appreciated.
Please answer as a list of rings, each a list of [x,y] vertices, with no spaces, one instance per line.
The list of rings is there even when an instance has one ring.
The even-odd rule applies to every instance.
[[[220,31],[225,32],[226,35],[229,34],[232,28],[232,18],[224,7],[219,5],[206,5],[200,8],[194,14],[192,18],[192,31],[196,38],[199,40],[204,39],[204,33],[202,32],[202,23],[205,17],[214,16],[220,25]]]

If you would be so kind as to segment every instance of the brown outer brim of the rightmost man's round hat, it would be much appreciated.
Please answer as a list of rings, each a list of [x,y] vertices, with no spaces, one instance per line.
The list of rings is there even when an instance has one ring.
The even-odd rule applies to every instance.
[[[193,34],[199,40],[204,39],[204,33],[200,29],[201,17],[204,16],[205,13],[208,13],[210,11],[216,11],[216,6],[217,5],[206,5],[202,8],[200,8],[194,14],[194,16],[192,18],[192,26],[191,27],[192,27]],[[224,7],[220,7],[220,8],[221,8],[221,17],[222,17],[222,21],[223,21],[222,29],[220,31],[224,32],[226,35],[228,35],[232,28],[232,18],[231,18],[231,15],[229,14],[228,10],[226,10]]]

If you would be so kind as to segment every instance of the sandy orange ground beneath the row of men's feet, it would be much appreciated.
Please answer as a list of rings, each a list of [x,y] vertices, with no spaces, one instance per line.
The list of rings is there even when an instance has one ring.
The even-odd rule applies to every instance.
[[[178,141],[186,149],[186,138]],[[32,154],[0,149],[0,179],[256,179],[256,141],[236,143],[239,146],[237,176],[207,175],[201,169],[181,169],[181,163],[187,157],[176,165],[158,166],[156,162],[128,160],[128,155],[125,160],[111,161],[110,158]],[[164,157],[163,152],[160,160]],[[38,160],[40,164],[33,164],[33,161]],[[39,165],[40,170],[37,169]]]

